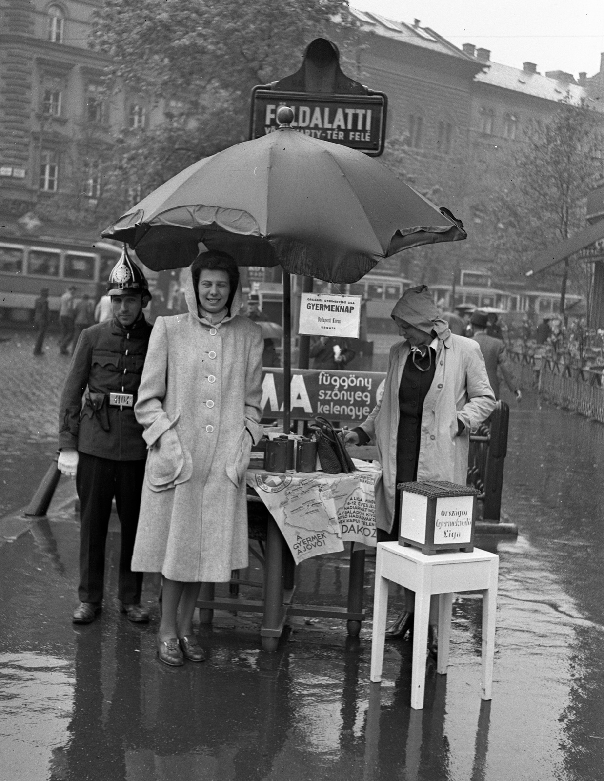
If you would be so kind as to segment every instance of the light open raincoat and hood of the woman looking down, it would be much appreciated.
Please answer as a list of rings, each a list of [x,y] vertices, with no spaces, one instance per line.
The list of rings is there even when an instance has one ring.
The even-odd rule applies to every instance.
[[[448,480],[467,483],[470,430],[495,409],[485,362],[478,344],[453,336],[440,319],[425,285],[406,291],[393,309],[393,319],[434,332],[438,337],[434,380],[421,415],[420,454],[417,480]],[[431,311],[433,309],[433,312]],[[389,532],[393,526],[396,494],[396,431],[399,425],[399,387],[410,354],[407,340],[390,349],[384,393],[361,428],[375,441],[382,465],[382,479],[375,487],[375,522]],[[457,435],[457,419],[464,431]],[[393,436],[393,432],[395,436]]]

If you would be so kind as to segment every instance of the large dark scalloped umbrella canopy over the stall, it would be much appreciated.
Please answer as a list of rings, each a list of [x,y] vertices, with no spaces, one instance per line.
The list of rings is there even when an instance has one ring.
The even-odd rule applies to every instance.
[[[184,169],[103,236],[156,271],[188,266],[203,241],[241,266],[346,283],[403,249],[467,234],[375,159],[282,126]]]

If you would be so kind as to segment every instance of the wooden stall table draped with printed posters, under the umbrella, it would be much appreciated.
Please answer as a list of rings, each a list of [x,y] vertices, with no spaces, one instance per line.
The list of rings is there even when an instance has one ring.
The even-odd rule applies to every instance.
[[[357,461],[357,471],[329,475],[324,472],[268,473],[249,469],[248,501],[261,501],[268,509],[265,551],[264,600],[215,599],[214,583],[202,583],[197,606],[211,621],[215,609],[261,612],[261,637],[266,651],[275,651],[289,615],[346,620],[348,632],[357,635],[364,619],[363,580],[365,546],[375,547],[375,483],[381,470]],[[348,606],[304,605],[293,602],[294,589],[283,585],[284,542],[293,562],[344,550],[350,555]],[[356,545],[356,549],[355,549]],[[290,585],[290,584],[286,584]]]

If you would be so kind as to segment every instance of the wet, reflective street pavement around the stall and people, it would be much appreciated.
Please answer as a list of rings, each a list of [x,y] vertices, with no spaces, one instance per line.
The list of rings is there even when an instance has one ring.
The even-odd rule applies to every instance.
[[[216,613],[208,662],[155,658],[158,582],[148,626],[117,612],[119,526],[108,544],[105,610],[73,626],[78,524],[62,480],[48,519],[27,504],[55,450],[67,359],[30,337],[0,341],[0,781],[599,781],[604,778],[604,426],[526,394],[512,406],[503,511],[517,540],[500,557],[493,699],[480,699],[481,600],[457,595],[447,676],[428,663],[411,711],[408,642],[386,647],[370,685],[371,621],[292,626],[261,651],[259,617]],[[17,346],[20,344],[20,347]],[[10,459],[10,460],[9,460]],[[366,607],[371,618],[372,565]],[[346,557],[300,565],[300,602],[345,604]],[[257,565],[250,580],[258,580]],[[249,597],[258,590],[242,588]],[[402,605],[393,587],[394,616]]]

